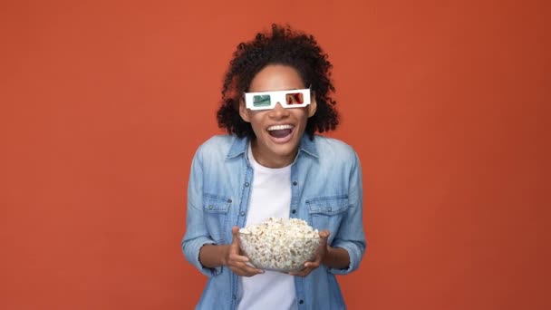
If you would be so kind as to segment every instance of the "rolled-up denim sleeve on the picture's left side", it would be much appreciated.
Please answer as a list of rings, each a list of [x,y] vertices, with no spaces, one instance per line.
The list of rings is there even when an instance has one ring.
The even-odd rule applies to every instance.
[[[203,220],[203,165],[201,149],[199,148],[191,162],[188,183],[188,209],[186,218],[186,234],[182,239],[182,250],[189,263],[205,276],[217,276],[222,267],[207,268],[199,261],[201,247],[216,244],[209,236]]]

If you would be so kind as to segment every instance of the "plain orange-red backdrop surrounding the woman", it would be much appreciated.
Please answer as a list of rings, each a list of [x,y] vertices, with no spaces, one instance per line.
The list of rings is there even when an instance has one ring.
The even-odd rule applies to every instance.
[[[351,309],[549,309],[547,1],[3,1],[0,308],[189,309],[191,157],[237,44],[315,35],[362,160]]]

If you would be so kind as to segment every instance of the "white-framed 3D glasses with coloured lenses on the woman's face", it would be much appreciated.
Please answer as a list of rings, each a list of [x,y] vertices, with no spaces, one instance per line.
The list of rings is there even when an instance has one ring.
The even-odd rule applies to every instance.
[[[270,110],[279,102],[285,109],[302,108],[310,104],[310,89],[276,92],[245,92],[245,105],[250,110]]]

